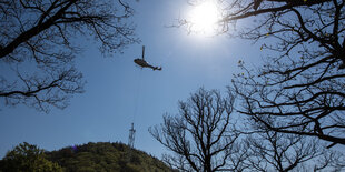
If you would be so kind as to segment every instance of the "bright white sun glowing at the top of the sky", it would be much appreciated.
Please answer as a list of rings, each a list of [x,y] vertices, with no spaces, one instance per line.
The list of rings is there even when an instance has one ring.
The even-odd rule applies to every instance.
[[[196,4],[189,13],[190,32],[204,36],[215,34],[219,19],[219,9],[214,0]]]

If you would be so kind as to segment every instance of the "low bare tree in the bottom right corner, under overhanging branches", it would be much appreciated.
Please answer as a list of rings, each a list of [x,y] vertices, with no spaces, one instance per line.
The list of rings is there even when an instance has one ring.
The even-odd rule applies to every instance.
[[[260,129],[262,130],[262,129]],[[339,171],[339,152],[325,149],[317,140],[303,135],[262,130],[244,140],[250,171]]]

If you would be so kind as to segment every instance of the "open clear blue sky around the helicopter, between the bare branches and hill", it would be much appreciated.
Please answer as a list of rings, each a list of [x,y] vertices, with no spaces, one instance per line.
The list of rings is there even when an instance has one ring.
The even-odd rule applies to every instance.
[[[166,28],[190,8],[185,0],[141,0],[134,8],[146,59],[162,71],[135,65],[141,44],[102,58],[97,45],[80,43],[85,51],[76,61],[88,82],[86,92],[76,94],[65,110],[52,109],[49,114],[23,105],[1,107],[0,158],[23,141],[49,151],[88,142],[127,143],[132,121],[135,146],[160,158],[166,150],[148,133],[149,127],[162,122],[166,112],[176,114],[178,100],[200,87],[225,91],[233,73],[239,72],[238,60],[255,64],[263,57],[259,44],[248,41]]]

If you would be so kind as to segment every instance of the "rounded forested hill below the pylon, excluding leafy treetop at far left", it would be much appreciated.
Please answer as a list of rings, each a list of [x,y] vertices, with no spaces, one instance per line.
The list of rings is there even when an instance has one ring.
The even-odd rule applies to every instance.
[[[57,162],[65,171],[102,172],[168,172],[172,171],[158,159],[124,143],[98,142],[68,146],[46,152],[47,159]]]

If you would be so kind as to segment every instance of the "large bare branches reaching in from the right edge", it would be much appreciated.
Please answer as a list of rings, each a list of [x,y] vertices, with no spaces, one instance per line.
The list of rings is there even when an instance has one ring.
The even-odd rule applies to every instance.
[[[262,67],[233,80],[239,112],[275,132],[345,144],[343,0],[219,1],[219,33],[262,43]],[[246,20],[245,27],[236,27]],[[193,24],[179,20],[180,26]],[[243,26],[243,24],[241,24]],[[231,30],[235,27],[236,30]],[[279,122],[269,121],[278,118]]]

